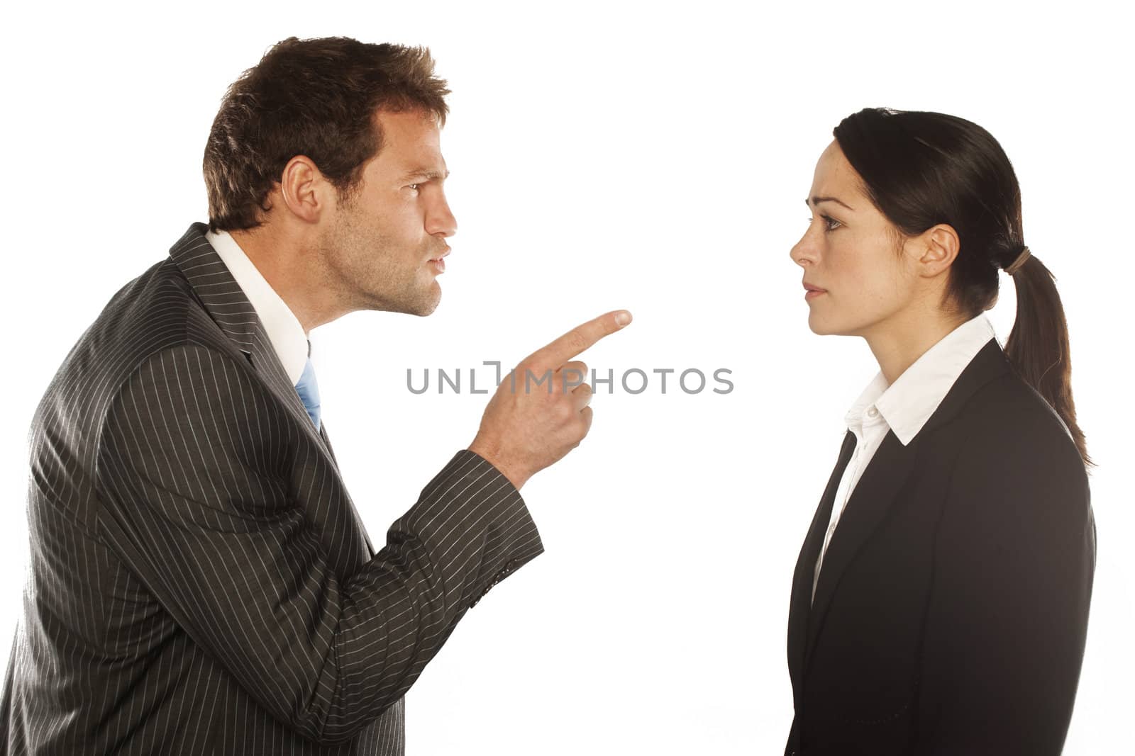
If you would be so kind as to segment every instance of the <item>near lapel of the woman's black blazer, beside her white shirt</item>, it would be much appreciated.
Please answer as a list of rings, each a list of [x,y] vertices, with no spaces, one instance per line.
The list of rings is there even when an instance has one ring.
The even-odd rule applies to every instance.
[[[938,409],[926,421],[918,434],[910,440],[909,444],[902,445],[898,436],[888,431],[882,444],[875,450],[875,455],[867,465],[867,469],[863,472],[855,491],[851,492],[847,508],[840,517],[840,524],[827,545],[827,552],[824,554],[819,581],[816,585],[816,597],[808,612],[807,642],[802,662],[805,670],[816,639],[824,627],[824,620],[827,617],[832,597],[839,587],[840,578],[890,511],[899,491],[910,477],[918,456],[919,440],[925,439],[926,434],[953,419],[977,389],[1009,369],[1011,369],[1010,364],[1001,350],[1001,346],[995,338],[991,338],[969,362],[958,380],[953,382]],[[848,433],[851,434],[850,431]],[[832,483],[829,482],[829,487],[831,485]],[[826,525],[827,520],[824,521],[825,528]],[[798,564],[798,571],[799,567]],[[814,567],[815,557],[813,558]],[[809,571],[808,580],[812,576],[813,572]],[[794,583],[793,580],[793,585]],[[808,586],[810,591],[810,581]]]

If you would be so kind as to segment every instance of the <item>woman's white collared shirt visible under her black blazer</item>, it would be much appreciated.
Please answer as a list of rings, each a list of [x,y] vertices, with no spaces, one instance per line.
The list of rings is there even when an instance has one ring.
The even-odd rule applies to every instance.
[[[813,600],[816,597],[816,584],[819,581],[819,567],[827,552],[827,544],[832,541],[832,534],[835,533],[835,526],[863,472],[871,464],[875,450],[883,443],[886,432],[893,431],[903,447],[910,443],[942,404],[961,372],[992,338],[994,338],[993,324],[985,313],[978,314],[923,352],[902,372],[902,375],[894,380],[894,383],[888,385],[886,379],[880,371],[843,416],[848,430],[855,433],[856,445],[835,491],[831,524],[827,526],[819,558],[816,559],[816,571],[812,580]]]

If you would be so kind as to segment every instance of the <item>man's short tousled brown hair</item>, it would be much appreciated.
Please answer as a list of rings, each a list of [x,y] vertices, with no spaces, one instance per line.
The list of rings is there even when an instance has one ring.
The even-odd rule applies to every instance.
[[[449,94],[424,48],[350,37],[277,42],[234,82],[205,144],[212,231],[255,228],[284,167],[306,155],[340,197],[382,146],[375,113],[421,110],[445,124]]]

